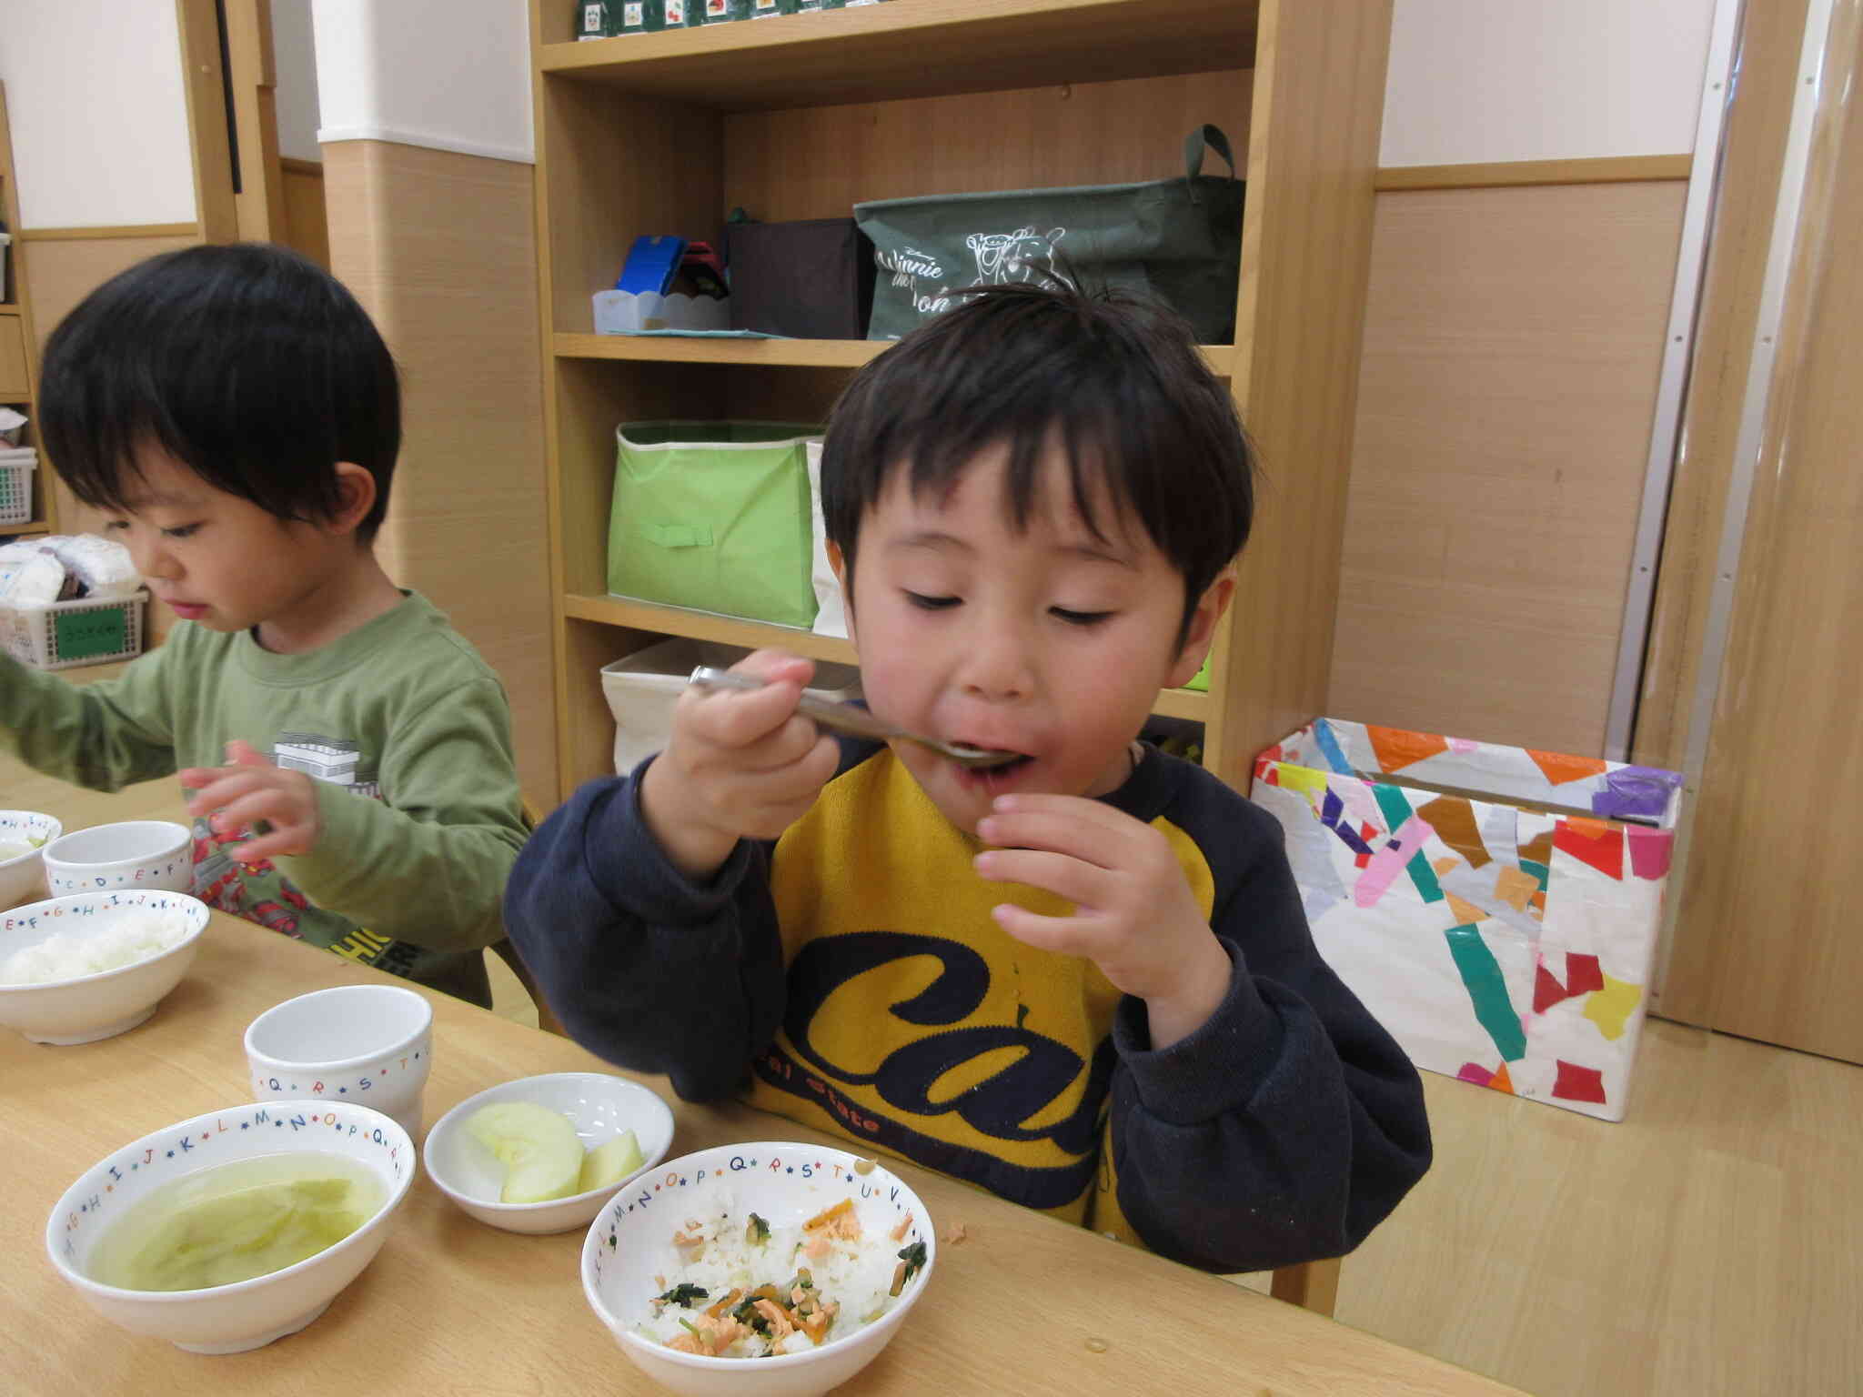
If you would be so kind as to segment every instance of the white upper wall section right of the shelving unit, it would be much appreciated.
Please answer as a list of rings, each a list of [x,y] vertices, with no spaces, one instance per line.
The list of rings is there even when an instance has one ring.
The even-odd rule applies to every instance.
[[[1714,0],[1397,0],[1379,164],[1688,155]]]

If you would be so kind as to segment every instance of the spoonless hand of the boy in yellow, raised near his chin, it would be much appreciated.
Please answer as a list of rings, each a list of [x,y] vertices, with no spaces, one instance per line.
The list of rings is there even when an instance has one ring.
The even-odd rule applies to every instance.
[[[976,872],[1027,883],[1075,903],[1073,916],[991,911],[1017,941],[1086,956],[1116,989],[1146,1000],[1151,1047],[1200,1028],[1230,989],[1217,943],[1166,838],[1082,795],[999,795],[976,827],[1004,848],[976,855]]]

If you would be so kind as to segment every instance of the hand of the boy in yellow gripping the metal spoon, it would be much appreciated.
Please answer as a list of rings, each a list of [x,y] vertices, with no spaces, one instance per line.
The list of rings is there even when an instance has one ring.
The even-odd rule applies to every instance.
[[[667,749],[641,782],[646,827],[693,879],[715,874],[740,838],[777,838],[840,762],[835,739],[796,712],[812,661],[758,650],[732,672],[764,687],[686,689]]]

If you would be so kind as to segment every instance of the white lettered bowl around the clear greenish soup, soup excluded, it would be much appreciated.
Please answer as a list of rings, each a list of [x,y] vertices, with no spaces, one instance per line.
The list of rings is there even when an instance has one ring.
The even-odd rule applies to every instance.
[[[285,1151],[361,1162],[382,1185],[382,1205],[335,1246],[253,1280],[199,1291],[129,1291],[91,1278],[88,1267],[99,1239],[162,1185],[216,1164]],[[328,1309],[382,1250],[414,1173],[414,1142],[378,1110],[332,1101],[227,1106],[145,1134],[93,1164],[47,1218],[45,1250],[58,1274],[104,1319],[190,1352],[237,1354],[296,1334]]]

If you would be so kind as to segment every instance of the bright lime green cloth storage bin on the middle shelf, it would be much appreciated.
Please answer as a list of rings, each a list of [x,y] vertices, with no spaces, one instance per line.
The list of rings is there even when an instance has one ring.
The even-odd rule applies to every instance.
[[[624,423],[615,430],[607,590],[777,626],[814,624],[799,423]]]

